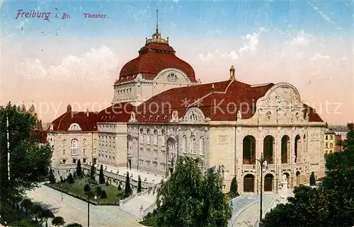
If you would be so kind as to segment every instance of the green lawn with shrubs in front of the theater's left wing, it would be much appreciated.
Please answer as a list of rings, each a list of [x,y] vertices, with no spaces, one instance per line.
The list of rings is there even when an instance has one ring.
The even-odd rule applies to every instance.
[[[55,186],[59,189],[62,189],[65,192],[71,192],[73,194],[78,195],[79,197],[87,198],[87,196],[84,193],[84,187],[88,181],[89,181],[89,177],[83,177],[83,178],[76,177],[74,184],[68,184],[66,182],[66,183],[50,184],[49,186]],[[105,193],[107,194],[107,198],[105,199],[101,199],[100,197],[97,197],[96,202],[98,202],[99,204],[116,204],[121,199],[120,197],[117,196],[118,194],[122,194],[122,192],[118,190],[118,187],[115,187],[113,185],[106,186],[105,184],[102,185],[90,184],[91,191],[96,193],[96,187],[98,186],[101,187],[101,190],[104,190]]]

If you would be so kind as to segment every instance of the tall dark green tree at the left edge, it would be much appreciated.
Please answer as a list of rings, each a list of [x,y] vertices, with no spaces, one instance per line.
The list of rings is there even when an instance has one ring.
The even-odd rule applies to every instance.
[[[24,196],[26,191],[33,190],[39,182],[47,180],[52,149],[49,144],[39,144],[40,134],[34,131],[37,120],[30,113],[18,111],[18,107],[11,103],[0,107],[1,202],[11,197]],[[11,153],[11,180],[8,180],[8,152]]]

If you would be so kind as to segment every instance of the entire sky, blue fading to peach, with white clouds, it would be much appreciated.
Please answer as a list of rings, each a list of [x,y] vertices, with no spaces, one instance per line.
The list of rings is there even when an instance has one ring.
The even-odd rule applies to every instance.
[[[354,121],[354,1],[0,2],[0,105],[33,103],[44,122],[69,103],[110,105],[156,9],[162,37],[202,83],[227,80],[234,65],[245,83],[292,83],[329,124]]]

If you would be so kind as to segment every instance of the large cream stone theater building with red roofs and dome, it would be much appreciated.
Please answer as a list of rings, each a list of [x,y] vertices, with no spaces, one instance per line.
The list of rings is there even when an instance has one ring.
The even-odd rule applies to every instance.
[[[223,81],[197,81],[156,28],[139,57],[122,67],[112,106],[98,113],[69,106],[52,122],[53,163],[86,158],[168,176],[178,156],[192,156],[201,168],[224,165],[224,190],[236,176],[241,193],[258,192],[255,158],[262,155],[265,191],[277,192],[284,174],[290,187],[309,182],[312,171],[324,176],[326,124],[294,86],[250,85],[236,79],[234,66]]]

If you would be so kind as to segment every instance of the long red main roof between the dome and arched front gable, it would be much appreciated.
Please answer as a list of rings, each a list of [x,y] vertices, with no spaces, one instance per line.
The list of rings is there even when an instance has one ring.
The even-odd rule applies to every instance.
[[[256,112],[258,98],[274,85],[251,86],[240,81],[220,81],[173,88],[139,105],[136,119],[138,122],[169,122],[173,110],[177,110],[178,118],[181,118],[189,107],[198,107],[205,117],[213,121],[234,121],[239,110],[242,119],[249,119]],[[309,111],[310,122],[322,122],[311,107]]]

